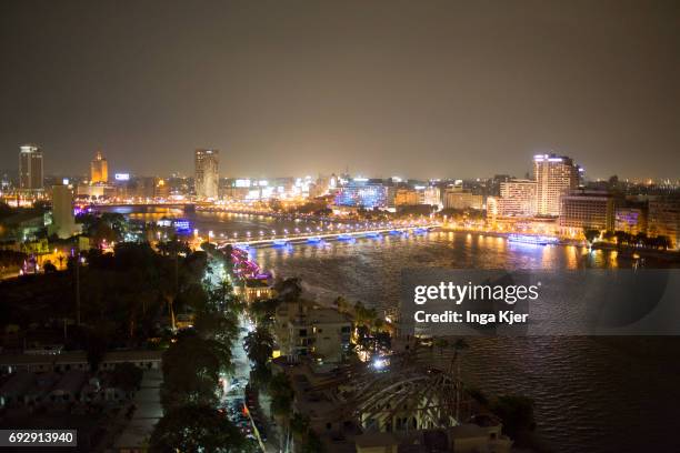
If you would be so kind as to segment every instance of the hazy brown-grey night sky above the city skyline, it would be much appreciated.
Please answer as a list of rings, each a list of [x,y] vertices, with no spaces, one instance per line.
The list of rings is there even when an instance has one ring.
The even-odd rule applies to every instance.
[[[0,59],[0,169],[680,177],[677,0],[3,0]]]

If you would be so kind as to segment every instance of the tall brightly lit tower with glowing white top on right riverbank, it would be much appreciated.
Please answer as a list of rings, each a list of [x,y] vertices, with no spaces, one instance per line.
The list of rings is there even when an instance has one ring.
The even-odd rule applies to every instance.
[[[560,197],[578,188],[579,169],[571,158],[556,154],[533,157],[533,179],[537,183],[537,213],[560,214]]]

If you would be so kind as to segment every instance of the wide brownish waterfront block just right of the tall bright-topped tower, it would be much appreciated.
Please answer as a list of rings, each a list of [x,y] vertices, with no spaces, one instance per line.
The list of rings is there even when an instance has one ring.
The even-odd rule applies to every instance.
[[[579,236],[583,230],[613,231],[614,198],[608,192],[572,190],[561,197],[560,230]]]

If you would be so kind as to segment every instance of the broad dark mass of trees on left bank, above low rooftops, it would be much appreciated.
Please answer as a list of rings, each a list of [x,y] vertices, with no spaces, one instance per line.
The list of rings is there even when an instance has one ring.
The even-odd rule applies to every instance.
[[[103,348],[140,348],[163,335],[178,296],[190,299],[207,266],[206,254],[174,260],[148,243],[117,243],[112,253],[73,251],[64,272],[0,282],[7,324],[63,328],[68,346],[103,341]],[[80,326],[73,325],[80,319]]]

